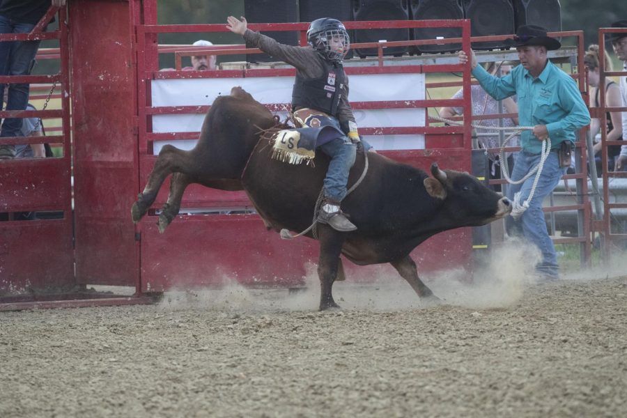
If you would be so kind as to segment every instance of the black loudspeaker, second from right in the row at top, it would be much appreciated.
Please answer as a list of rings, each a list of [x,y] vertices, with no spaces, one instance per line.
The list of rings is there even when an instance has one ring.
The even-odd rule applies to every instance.
[[[470,19],[472,36],[510,35],[516,31],[511,0],[465,0],[464,14]],[[473,49],[500,47],[504,47],[503,41],[472,42]]]

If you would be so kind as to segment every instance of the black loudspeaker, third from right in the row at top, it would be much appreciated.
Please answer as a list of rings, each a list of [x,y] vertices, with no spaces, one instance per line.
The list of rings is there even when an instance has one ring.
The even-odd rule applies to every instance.
[[[451,20],[463,19],[464,8],[461,0],[411,0],[412,20]],[[461,28],[414,29],[415,40],[438,38],[461,38]],[[421,53],[458,51],[461,44],[419,45]]]

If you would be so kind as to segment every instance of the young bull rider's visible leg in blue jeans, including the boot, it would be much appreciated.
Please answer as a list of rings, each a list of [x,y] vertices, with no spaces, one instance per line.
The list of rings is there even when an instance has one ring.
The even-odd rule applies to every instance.
[[[331,157],[324,180],[325,202],[318,221],[330,224],[338,231],[353,231],[356,226],[341,213],[340,203],[346,196],[348,172],[355,164],[357,146],[348,137],[338,137],[318,148]]]

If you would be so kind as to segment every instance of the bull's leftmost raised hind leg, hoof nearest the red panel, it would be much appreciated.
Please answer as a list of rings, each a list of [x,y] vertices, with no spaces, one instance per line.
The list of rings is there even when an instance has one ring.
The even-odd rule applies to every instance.
[[[189,164],[189,160],[189,152],[187,151],[171,145],[166,145],[161,149],[157,162],[155,162],[155,167],[148,177],[148,183],[144,187],[144,192],[137,196],[137,201],[133,203],[131,208],[133,222],[139,222],[139,219],[146,215],[148,208],[157,199],[157,193],[165,178],[174,171],[180,171],[180,167],[186,167]]]

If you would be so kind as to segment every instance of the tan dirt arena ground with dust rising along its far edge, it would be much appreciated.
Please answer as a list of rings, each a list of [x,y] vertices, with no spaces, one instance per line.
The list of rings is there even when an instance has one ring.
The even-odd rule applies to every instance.
[[[627,416],[627,277],[496,267],[426,279],[436,306],[389,277],[318,312],[312,278],[3,312],[0,417]]]

